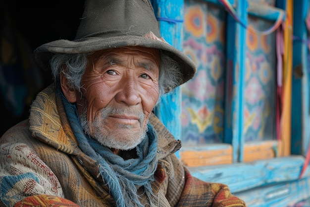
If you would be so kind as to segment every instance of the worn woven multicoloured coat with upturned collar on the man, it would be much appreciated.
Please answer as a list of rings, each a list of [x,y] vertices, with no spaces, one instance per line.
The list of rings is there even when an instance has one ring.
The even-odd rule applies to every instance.
[[[157,207],[245,207],[226,185],[191,176],[175,156],[181,147],[151,115],[158,134],[158,165],[152,183]],[[29,120],[0,138],[0,206],[114,207],[96,161],[84,154],[51,85],[33,102]],[[141,203],[147,199],[138,189]]]

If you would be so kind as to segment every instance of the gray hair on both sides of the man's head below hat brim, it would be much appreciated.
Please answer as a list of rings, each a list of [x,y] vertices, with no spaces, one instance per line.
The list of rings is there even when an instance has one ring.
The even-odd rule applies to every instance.
[[[182,81],[182,73],[180,72],[178,63],[160,50],[159,54],[159,98],[157,104],[164,94],[173,91]],[[54,54],[50,61],[54,81],[60,82],[59,73],[62,72],[68,80],[67,85],[81,92],[81,88],[83,88],[81,80],[88,63],[87,57],[89,55],[91,53]]]

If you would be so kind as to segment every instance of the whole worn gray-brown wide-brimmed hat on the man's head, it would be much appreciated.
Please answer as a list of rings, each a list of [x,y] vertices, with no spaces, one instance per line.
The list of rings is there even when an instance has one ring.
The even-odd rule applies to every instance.
[[[195,63],[160,37],[149,0],[86,0],[75,39],[44,44],[35,50],[34,58],[46,69],[54,53],[89,53],[125,46],[160,49],[179,64],[183,74],[179,85],[196,73]]]

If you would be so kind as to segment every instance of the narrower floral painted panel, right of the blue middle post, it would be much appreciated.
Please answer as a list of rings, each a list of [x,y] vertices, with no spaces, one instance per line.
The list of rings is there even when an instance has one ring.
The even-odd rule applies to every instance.
[[[256,31],[270,28],[273,22],[249,16]],[[276,138],[276,47],[275,33],[247,32],[245,84],[245,141]]]

